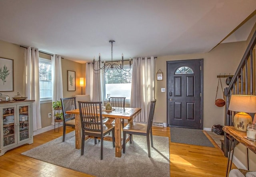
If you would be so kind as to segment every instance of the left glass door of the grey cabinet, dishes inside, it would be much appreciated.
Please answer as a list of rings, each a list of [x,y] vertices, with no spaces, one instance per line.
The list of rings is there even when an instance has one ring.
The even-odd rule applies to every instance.
[[[3,115],[3,142],[2,145],[8,146],[15,143],[15,129],[14,129],[14,122],[15,122],[15,111],[16,106],[5,107],[2,109]]]

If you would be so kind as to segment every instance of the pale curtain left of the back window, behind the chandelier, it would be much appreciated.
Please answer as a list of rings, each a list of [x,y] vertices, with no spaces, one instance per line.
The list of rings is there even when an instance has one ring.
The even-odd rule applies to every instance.
[[[98,68],[98,62],[94,64]],[[104,104],[104,70],[94,71],[93,64],[86,63],[86,94],[90,94],[91,101],[102,101]],[[88,87],[89,86],[89,87]]]

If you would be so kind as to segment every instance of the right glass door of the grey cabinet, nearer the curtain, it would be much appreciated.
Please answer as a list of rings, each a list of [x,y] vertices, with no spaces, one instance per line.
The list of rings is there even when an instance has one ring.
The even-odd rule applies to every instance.
[[[20,132],[20,137],[19,141],[22,141],[24,139],[29,138],[29,106],[28,105],[18,105],[18,112],[19,112],[19,132]]]

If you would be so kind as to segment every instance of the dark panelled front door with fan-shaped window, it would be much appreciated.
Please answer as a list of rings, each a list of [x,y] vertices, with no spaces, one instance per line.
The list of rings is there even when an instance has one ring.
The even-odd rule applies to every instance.
[[[203,59],[167,62],[169,126],[203,128]]]

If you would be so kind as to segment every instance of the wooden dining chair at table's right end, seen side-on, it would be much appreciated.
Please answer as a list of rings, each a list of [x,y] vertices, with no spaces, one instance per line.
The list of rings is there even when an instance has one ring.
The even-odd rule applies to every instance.
[[[149,136],[151,139],[151,147],[153,147],[152,123],[153,123],[155,105],[156,105],[156,99],[154,101],[151,101],[150,103],[150,110],[149,110],[147,125],[143,123],[132,122],[132,123],[128,123],[128,125],[126,125],[123,128],[123,153],[125,153],[125,147],[126,147],[126,133],[130,134],[130,143],[132,143],[132,135],[143,135],[147,137],[148,157],[151,157]]]

